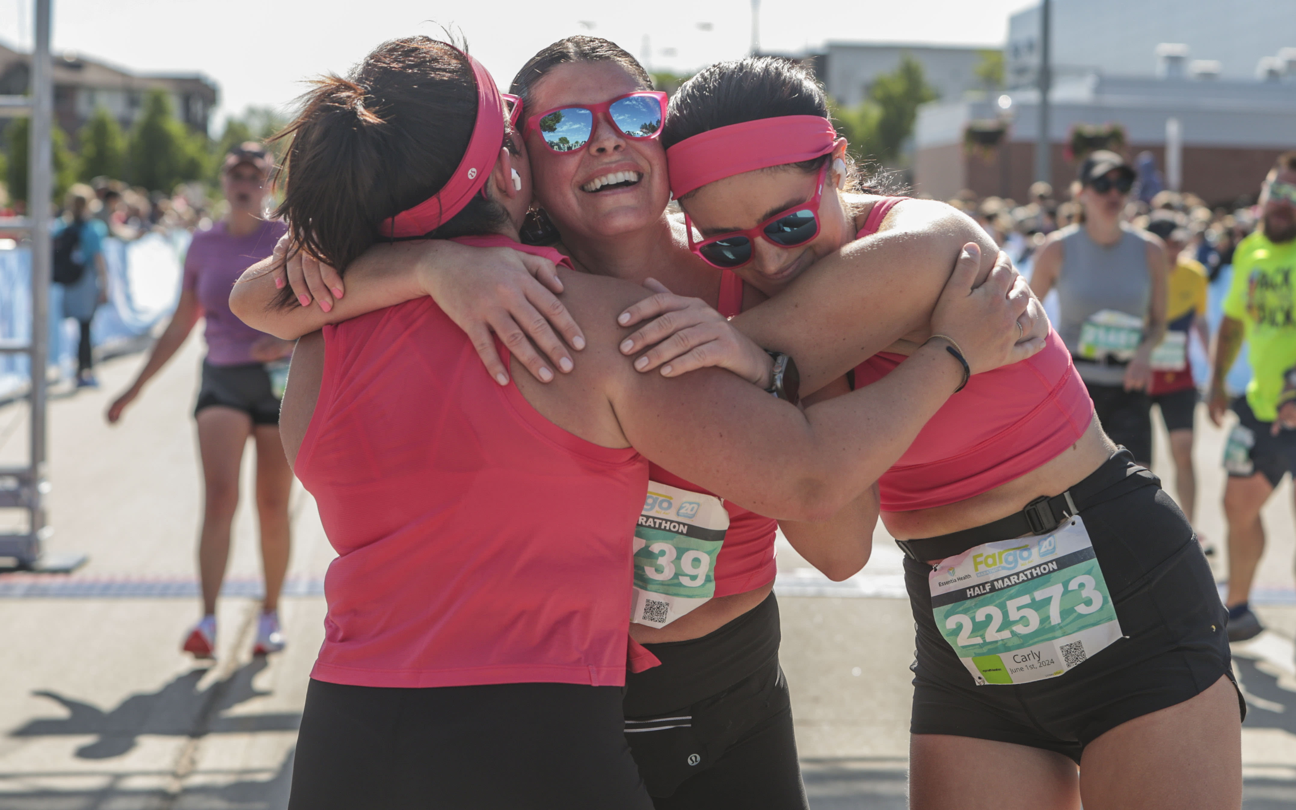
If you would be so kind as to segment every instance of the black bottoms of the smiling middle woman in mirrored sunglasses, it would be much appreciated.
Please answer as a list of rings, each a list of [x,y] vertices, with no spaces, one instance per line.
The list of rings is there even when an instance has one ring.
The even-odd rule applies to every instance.
[[[661,666],[626,677],[626,739],[656,810],[807,810],[774,594],[699,639],[644,647]]]

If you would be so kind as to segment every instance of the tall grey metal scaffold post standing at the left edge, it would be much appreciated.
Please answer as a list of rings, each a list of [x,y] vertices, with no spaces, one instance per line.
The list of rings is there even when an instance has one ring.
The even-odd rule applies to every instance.
[[[53,66],[49,60],[52,0],[35,0],[35,40],[31,54],[31,93],[29,97],[0,96],[0,115],[31,113],[29,130],[27,216],[0,220],[6,229],[26,229],[31,249],[31,338],[26,345],[0,346],[0,350],[26,354],[30,360],[29,388],[31,442],[25,468],[0,468],[0,508],[26,509],[27,530],[0,534],[0,557],[10,557],[18,568],[69,572],[86,562],[86,555],[49,555],[43,544],[51,527],[45,517],[47,394],[49,368],[49,284],[51,254],[49,200],[53,192],[53,146],[51,132],[54,115]]]

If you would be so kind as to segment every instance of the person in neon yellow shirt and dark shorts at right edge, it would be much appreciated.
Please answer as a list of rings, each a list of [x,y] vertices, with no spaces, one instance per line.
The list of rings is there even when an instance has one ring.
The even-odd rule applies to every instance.
[[[1260,228],[1242,240],[1232,258],[1232,286],[1212,358],[1210,420],[1225,410],[1238,425],[1225,446],[1229,482],[1223,491],[1229,526],[1229,638],[1240,642],[1262,626],[1248,605],[1256,565],[1265,551],[1260,509],[1288,472],[1296,470],[1296,407],[1278,404],[1287,372],[1296,367],[1296,152],[1278,157],[1260,196]],[[1245,397],[1229,402],[1223,381],[1242,341],[1251,345],[1252,378]]]

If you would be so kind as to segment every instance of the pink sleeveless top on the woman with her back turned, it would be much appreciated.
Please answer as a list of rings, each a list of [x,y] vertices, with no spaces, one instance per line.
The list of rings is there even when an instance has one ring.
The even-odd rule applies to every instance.
[[[338,553],[311,677],[625,684],[648,463],[494,382],[430,298],[325,327],[324,341],[295,470]]]

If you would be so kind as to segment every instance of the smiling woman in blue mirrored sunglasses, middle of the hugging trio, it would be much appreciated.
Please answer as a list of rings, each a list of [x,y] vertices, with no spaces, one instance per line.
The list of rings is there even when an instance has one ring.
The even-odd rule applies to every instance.
[[[578,264],[638,283],[654,276],[671,289],[718,305],[723,273],[691,253],[682,223],[665,216],[669,188],[656,137],[661,110],[653,121],[651,97],[643,92],[648,87],[647,74],[629,54],[592,38],[557,43],[520,71],[513,89],[525,100],[520,127],[537,200]],[[894,267],[897,277],[918,270],[945,279],[963,241],[978,233],[971,224],[962,233],[946,228],[927,251],[888,245],[874,260]],[[508,266],[503,275],[491,266],[502,260]],[[557,299],[529,275],[512,270],[518,260],[552,273],[552,264],[543,259],[511,250],[490,253],[443,241],[377,246],[350,266],[343,298],[341,279],[307,257],[305,266],[315,271],[310,288],[330,311],[267,308],[276,295],[270,277],[240,285],[233,305],[249,323],[295,337],[432,292],[473,338],[494,376],[508,381],[491,330],[537,378],[553,380],[511,312],[517,314],[517,323],[530,325],[539,318],[531,310],[534,302],[561,324],[573,347],[583,345],[583,336]],[[985,264],[982,272],[989,260]],[[477,270],[464,273],[464,266]],[[294,270],[290,263],[289,271],[295,285],[293,273],[301,266]],[[866,276],[859,280],[871,284]],[[329,295],[327,288],[337,292]],[[305,295],[305,288],[297,289]],[[521,294],[513,292],[518,289]],[[848,289],[839,294],[851,295]],[[511,298],[520,303],[508,305]],[[544,324],[537,330],[539,343],[560,372],[570,372],[572,355],[547,329]],[[762,388],[775,385],[765,351],[723,330],[713,333],[735,350],[723,353],[726,358],[737,354],[734,371]],[[813,355],[801,363],[804,378],[815,389],[844,371],[831,371]],[[778,610],[770,595],[775,524],[665,469],[654,467],[652,481],[636,540],[642,547],[635,559],[631,634],[662,666],[631,675],[625,701],[627,739],[640,771],[660,807],[804,807],[787,684],[776,657]],[[687,530],[664,529],[666,517],[673,518],[671,526],[683,526],[680,509],[691,511]],[[875,520],[876,502],[866,494],[831,521],[784,522],[783,527],[806,559],[841,579],[867,560]]]

